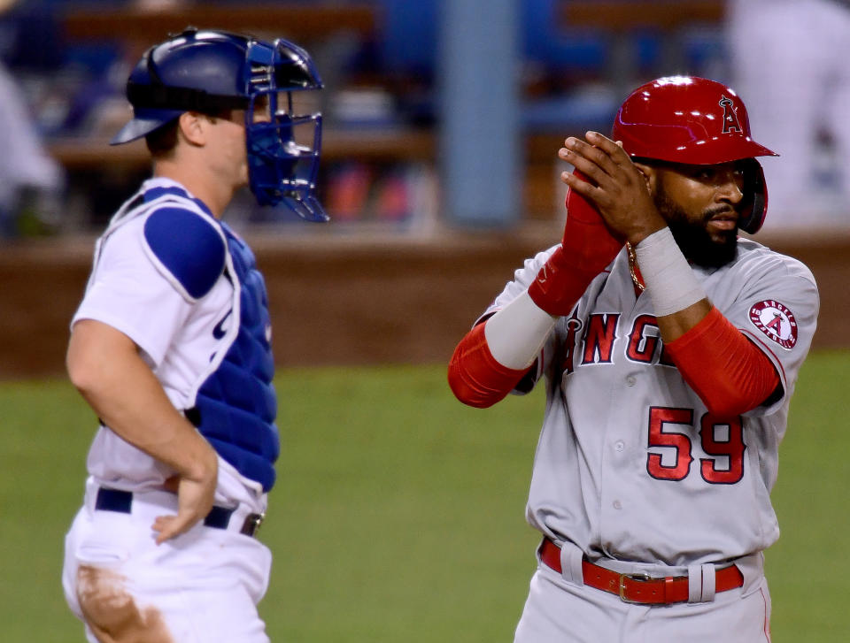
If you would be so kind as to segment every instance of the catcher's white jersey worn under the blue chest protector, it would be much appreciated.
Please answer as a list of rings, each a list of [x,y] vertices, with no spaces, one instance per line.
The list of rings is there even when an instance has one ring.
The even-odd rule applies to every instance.
[[[198,387],[220,364],[239,330],[231,312],[239,293],[222,273],[209,292],[197,299],[162,264],[146,239],[145,224],[152,213],[173,205],[175,190],[188,193],[173,180],[159,178],[145,181],[140,194],[158,190],[164,194],[131,220],[114,218],[98,241],[95,266],[72,325],[80,319],[96,319],[128,335],[142,348],[143,358],[174,408],[188,410],[196,403]],[[193,211],[202,226],[224,239],[222,224],[204,208],[186,198],[180,207]],[[92,442],[87,464],[97,482],[126,491],[159,489],[174,475],[165,464],[104,426]],[[265,511],[262,486],[221,457],[219,464],[216,502],[249,503],[253,511]]]

